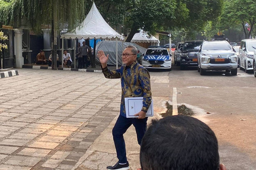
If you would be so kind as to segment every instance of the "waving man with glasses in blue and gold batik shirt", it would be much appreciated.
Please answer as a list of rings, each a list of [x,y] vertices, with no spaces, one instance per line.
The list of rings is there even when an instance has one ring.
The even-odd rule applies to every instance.
[[[102,71],[107,79],[121,79],[122,99],[120,105],[120,115],[112,130],[113,139],[116,147],[118,162],[114,166],[108,166],[108,170],[128,170],[129,163],[126,157],[126,148],[123,134],[134,125],[137,133],[138,144],[141,144],[147,128],[146,112],[152,101],[150,89],[150,75],[142,65],[137,62],[137,49],[129,45],[122,53],[124,65],[110,71],[107,67],[108,55],[102,50],[98,51],[98,57],[102,65]],[[126,118],[125,97],[143,97],[143,107],[135,116],[138,118]]]

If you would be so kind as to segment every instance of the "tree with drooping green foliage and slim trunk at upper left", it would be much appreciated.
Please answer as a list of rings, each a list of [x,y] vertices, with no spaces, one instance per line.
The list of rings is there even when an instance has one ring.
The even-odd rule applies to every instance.
[[[35,32],[41,32],[43,25],[51,25],[54,69],[57,69],[57,33],[78,26],[85,17],[85,5],[85,0],[0,0],[0,22],[14,28],[26,24]]]

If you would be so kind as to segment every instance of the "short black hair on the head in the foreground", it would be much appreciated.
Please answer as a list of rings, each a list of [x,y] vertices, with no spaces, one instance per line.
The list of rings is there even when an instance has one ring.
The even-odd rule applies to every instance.
[[[218,170],[218,140],[193,117],[153,120],[142,139],[140,164],[143,170]]]

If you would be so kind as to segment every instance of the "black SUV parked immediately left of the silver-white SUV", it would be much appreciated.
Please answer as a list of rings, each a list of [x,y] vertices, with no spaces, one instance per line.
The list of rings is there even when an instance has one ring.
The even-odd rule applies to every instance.
[[[202,45],[203,41],[186,41],[183,47],[180,49],[180,69],[183,70],[184,67],[197,67],[197,54]]]

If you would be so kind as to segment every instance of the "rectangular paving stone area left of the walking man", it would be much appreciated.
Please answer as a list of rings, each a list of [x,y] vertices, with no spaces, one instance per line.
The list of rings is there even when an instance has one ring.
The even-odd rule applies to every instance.
[[[0,170],[70,170],[118,115],[120,79],[17,69],[0,81]]]

